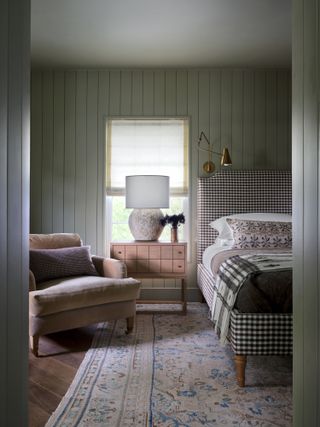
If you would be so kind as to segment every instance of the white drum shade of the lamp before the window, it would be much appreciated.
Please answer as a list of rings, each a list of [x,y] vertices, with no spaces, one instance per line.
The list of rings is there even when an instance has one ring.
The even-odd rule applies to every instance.
[[[126,208],[169,207],[169,177],[164,175],[126,176]]]

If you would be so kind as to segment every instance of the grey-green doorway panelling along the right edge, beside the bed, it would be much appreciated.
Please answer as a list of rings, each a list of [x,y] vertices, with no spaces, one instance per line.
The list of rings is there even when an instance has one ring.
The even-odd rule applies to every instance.
[[[320,425],[319,31],[317,1],[293,1],[294,426]],[[284,74],[278,77],[282,81]],[[279,87],[279,85],[278,85]],[[285,88],[279,90],[283,117]],[[280,101],[281,100],[281,101]],[[281,137],[284,130],[278,129]]]

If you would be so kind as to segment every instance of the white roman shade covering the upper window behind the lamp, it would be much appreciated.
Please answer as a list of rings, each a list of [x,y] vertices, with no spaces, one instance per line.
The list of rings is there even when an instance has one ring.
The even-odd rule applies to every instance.
[[[128,175],[166,175],[170,195],[188,194],[187,119],[110,119],[107,194],[125,194]]]

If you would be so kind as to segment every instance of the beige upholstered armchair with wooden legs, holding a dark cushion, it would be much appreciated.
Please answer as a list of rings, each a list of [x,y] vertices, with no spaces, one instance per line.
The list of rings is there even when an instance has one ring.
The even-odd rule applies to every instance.
[[[30,234],[29,243],[29,335],[36,356],[39,337],[51,332],[120,318],[132,331],[140,282],[126,277],[123,262],[90,256],[78,234]]]

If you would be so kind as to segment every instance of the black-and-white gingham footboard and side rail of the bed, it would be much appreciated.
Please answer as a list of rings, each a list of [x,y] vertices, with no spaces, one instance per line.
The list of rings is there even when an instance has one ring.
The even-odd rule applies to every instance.
[[[209,308],[213,301],[214,277],[198,264],[198,286]],[[237,355],[292,354],[291,313],[231,312],[229,341]]]

